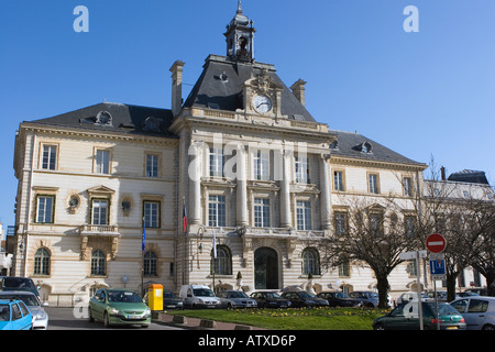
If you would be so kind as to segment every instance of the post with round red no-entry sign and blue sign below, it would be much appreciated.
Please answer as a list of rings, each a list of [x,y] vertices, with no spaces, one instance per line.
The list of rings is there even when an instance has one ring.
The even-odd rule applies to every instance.
[[[447,241],[439,234],[430,234],[427,239],[427,249],[430,252],[430,275],[433,282],[435,289],[435,307],[437,310],[437,330],[440,330],[440,317],[438,311],[438,296],[437,296],[437,280],[446,279],[446,258],[443,251],[446,250]]]

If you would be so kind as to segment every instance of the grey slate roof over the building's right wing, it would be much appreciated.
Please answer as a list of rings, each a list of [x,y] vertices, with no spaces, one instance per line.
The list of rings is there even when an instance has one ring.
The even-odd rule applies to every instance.
[[[337,145],[331,150],[332,155],[426,167],[425,164],[415,162],[359,133],[334,130],[330,130],[330,133],[337,134],[338,139]]]

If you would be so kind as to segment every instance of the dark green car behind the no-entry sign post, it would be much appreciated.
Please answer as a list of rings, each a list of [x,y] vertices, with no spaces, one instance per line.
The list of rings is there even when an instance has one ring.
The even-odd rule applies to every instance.
[[[421,301],[424,329],[437,330],[436,304]],[[374,330],[419,330],[418,301],[400,304],[388,315],[373,321]],[[465,330],[465,321],[459,311],[451,305],[441,302],[438,305],[441,330]]]

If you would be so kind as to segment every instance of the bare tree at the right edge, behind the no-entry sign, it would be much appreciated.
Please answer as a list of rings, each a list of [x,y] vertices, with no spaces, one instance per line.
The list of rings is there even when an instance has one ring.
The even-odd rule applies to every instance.
[[[418,195],[418,239],[422,242],[420,248],[425,249],[429,234],[440,233],[446,238],[447,295],[448,300],[453,300],[459,274],[474,263],[485,248],[493,221],[487,210],[493,201],[486,197],[485,186],[439,178],[435,162],[430,172],[430,179]]]

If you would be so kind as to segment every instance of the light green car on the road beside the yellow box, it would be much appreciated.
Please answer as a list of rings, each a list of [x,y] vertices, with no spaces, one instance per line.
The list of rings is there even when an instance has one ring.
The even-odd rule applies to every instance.
[[[89,321],[111,324],[140,324],[147,328],[151,310],[143,299],[129,289],[102,288],[89,300]]]

